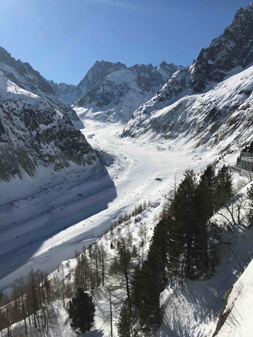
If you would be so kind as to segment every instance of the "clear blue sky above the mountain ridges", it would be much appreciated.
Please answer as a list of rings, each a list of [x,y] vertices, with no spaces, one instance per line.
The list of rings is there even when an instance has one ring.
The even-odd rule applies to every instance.
[[[239,0],[0,0],[0,45],[45,78],[78,84],[96,60],[188,65]]]

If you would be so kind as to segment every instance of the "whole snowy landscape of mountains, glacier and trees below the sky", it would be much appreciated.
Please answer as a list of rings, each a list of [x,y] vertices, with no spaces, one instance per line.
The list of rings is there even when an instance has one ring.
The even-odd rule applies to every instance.
[[[78,85],[0,47],[1,337],[252,336],[252,19]]]

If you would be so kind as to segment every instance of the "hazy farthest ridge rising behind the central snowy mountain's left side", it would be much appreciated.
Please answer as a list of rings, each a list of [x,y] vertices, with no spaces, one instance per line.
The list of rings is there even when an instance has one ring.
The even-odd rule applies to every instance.
[[[57,84],[54,83],[53,80],[48,81],[48,83],[51,85],[56,95],[69,105],[72,105],[80,96],[91,89],[101,78],[104,78],[111,72],[122,68],[126,68],[126,66],[120,62],[112,63],[106,61],[96,61],[78,85],[65,83]]]

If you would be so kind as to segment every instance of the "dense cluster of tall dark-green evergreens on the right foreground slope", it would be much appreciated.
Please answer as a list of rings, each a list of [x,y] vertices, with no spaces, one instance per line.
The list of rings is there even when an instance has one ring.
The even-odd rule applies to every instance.
[[[187,170],[167,195],[163,217],[154,229],[147,259],[133,272],[130,298],[118,322],[120,337],[153,336],[162,321],[160,294],[168,279],[212,277],[219,264],[222,229],[210,222],[233,196],[232,177],[224,165],[215,175],[208,166],[199,177]]]

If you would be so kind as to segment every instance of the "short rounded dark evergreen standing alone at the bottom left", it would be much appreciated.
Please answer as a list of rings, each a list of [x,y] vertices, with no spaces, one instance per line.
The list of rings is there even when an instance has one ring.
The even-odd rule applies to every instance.
[[[82,333],[90,331],[95,314],[95,304],[92,302],[92,297],[79,288],[73,300],[69,301],[68,313],[71,319],[70,326],[75,331]]]

